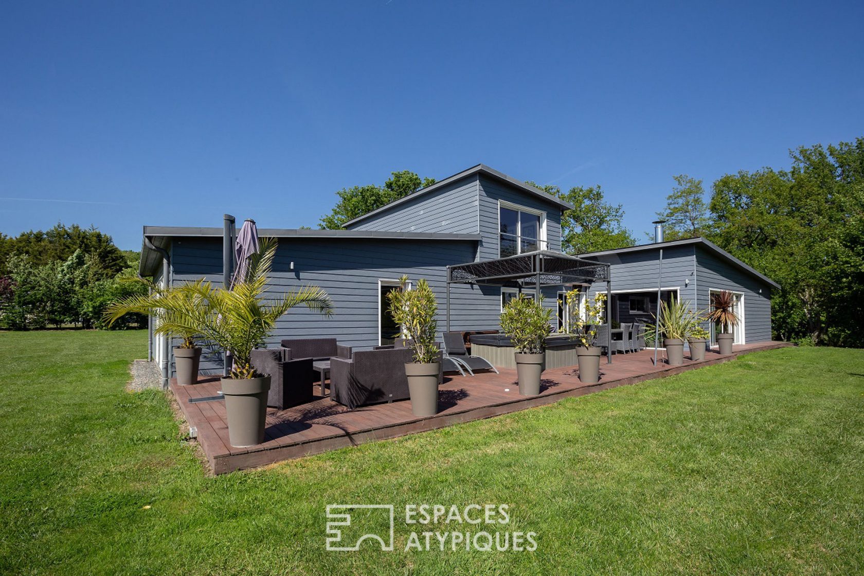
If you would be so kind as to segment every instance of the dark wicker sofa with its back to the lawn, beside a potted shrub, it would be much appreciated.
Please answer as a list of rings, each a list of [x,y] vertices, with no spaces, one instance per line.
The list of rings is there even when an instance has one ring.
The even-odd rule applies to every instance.
[[[348,408],[407,400],[405,364],[410,364],[412,356],[410,348],[385,348],[355,351],[350,359],[331,358],[330,397]],[[442,380],[439,369],[438,383]]]

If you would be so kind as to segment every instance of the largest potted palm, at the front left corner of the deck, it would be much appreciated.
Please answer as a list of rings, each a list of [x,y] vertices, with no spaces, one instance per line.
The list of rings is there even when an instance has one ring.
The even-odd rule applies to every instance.
[[[209,303],[200,332],[205,339],[231,352],[233,366],[222,378],[222,394],[228,416],[228,437],[232,446],[254,446],[264,441],[264,417],[270,375],[258,372],[251,364],[252,350],[264,345],[284,313],[301,304],[330,316],[333,302],[321,288],[307,286],[274,298],[264,295],[267,276],[276,256],[277,244],[265,238],[260,251],[252,255],[244,278],[231,289],[213,288],[210,282],[190,286]]]

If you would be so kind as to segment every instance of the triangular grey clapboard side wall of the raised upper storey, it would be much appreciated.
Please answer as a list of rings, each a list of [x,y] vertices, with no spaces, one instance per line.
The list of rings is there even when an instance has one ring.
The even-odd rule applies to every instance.
[[[451,182],[350,226],[352,230],[476,234],[477,177]],[[470,260],[473,260],[473,256]],[[470,262],[470,260],[468,262]]]

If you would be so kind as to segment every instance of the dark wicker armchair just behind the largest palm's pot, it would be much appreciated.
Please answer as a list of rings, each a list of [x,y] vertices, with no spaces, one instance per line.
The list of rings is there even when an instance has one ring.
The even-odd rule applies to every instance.
[[[253,350],[252,366],[270,375],[267,405],[280,410],[312,402],[312,358],[286,359],[284,348]]]

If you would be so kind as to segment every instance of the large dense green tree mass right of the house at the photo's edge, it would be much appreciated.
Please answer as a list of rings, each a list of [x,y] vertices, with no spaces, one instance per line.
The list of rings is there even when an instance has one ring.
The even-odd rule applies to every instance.
[[[862,346],[864,138],[790,155],[788,171],[715,182],[713,239],[780,284],[772,293],[779,338]]]

